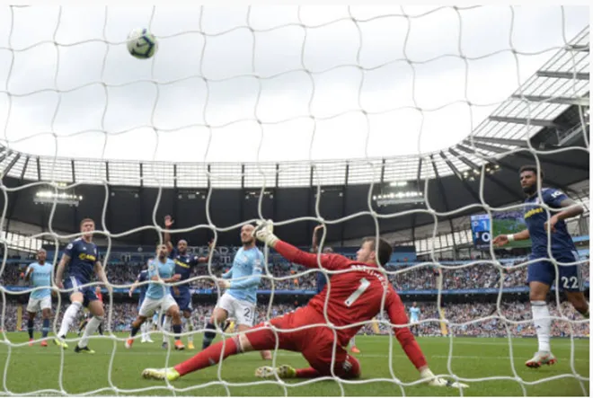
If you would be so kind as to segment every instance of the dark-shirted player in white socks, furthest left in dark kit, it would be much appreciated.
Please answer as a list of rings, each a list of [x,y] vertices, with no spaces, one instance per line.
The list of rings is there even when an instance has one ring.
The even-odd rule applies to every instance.
[[[90,354],[93,354],[94,351],[88,348],[89,337],[101,325],[105,311],[102,302],[99,301],[95,294],[94,287],[84,285],[91,282],[94,273],[111,293],[111,285],[109,285],[105,270],[101,261],[99,261],[99,250],[97,245],[93,243],[93,230],[94,221],[91,218],[84,218],[80,222],[82,237],[75,239],[66,246],[62,260],[59,261],[58,270],[56,271],[56,285],[60,289],[66,288],[66,290],[69,290],[71,304],[64,313],[58,336],[54,339],[58,346],[63,349],[68,348],[64,341],[66,333],[70,325],[75,322],[78,311],[84,306],[93,314],[93,319],[86,325],[83,337],[78,341],[75,352]],[[66,278],[64,277],[65,270]]]

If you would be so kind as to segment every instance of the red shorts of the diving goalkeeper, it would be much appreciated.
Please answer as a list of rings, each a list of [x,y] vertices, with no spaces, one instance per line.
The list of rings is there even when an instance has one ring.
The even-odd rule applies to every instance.
[[[323,314],[319,314],[308,305],[298,308],[294,312],[285,314],[270,322],[259,323],[246,333],[247,339],[255,350],[275,349],[278,341],[279,349],[297,351],[309,362],[321,376],[332,376],[332,354],[334,352],[334,333],[327,326],[309,327],[294,332],[274,332],[269,324],[280,330],[297,329],[315,323],[326,323]],[[268,326],[268,327],[267,327]],[[278,336],[278,337],[277,337]],[[335,345],[334,375],[350,378],[360,375],[360,365],[356,358]]]

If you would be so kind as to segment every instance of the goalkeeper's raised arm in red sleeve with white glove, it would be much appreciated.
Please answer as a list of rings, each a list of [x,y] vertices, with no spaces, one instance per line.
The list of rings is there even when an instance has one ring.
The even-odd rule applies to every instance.
[[[271,220],[259,222],[258,226],[253,230],[253,234],[258,240],[268,244],[268,246],[279,252],[288,261],[296,262],[307,268],[319,268],[317,253],[303,252],[292,244],[279,240],[278,236],[274,234],[274,226]],[[321,255],[321,264],[327,270],[338,270],[342,265],[348,263],[349,260],[339,254]]]

